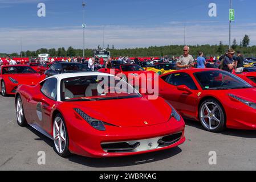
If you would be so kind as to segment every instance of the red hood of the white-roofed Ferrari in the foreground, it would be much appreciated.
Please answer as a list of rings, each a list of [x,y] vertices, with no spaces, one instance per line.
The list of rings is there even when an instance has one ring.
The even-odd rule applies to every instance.
[[[159,98],[147,97],[121,100],[73,102],[90,117],[120,127],[151,126],[168,122],[172,109]]]

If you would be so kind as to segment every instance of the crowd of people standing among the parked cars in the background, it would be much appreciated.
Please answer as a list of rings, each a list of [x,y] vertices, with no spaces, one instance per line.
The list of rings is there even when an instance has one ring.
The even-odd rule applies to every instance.
[[[169,62],[176,62],[176,66],[179,69],[187,69],[187,68],[192,68],[194,67],[195,60],[192,55],[189,54],[190,48],[188,46],[184,46],[183,48],[183,54],[178,58],[175,59],[174,56],[170,59],[167,55],[166,56],[161,56],[160,60],[162,63],[169,63]],[[217,59],[220,61],[220,69],[224,69],[225,71],[232,72],[233,69],[235,69],[235,72],[243,72],[243,56],[241,51],[237,51],[237,56],[235,55],[235,51],[233,49],[228,49],[224,55],[221,55],[220,57],[211,57],[212,59]],[[98,65],[99,67],[104,67],[104,68],[112,68],[112,60],[118,60],[118,61],[123,61],[123,63],[135,63],[139,64],[139,57],[135,56],[131,59],[129,56],[119,56],[119,57],[109,57],[106,61],[104,61],[103,57],[62,57],[59,59],[56,57],[55,59],[52,57],[50,59],[50,62],[53,61],[65,61],[68,63],[86,63],[88,61],[88,68],[91,68],[92,70],[95,69],[95,65]],[[155,60],[155,57],[151,56],[150,60],[152,61]],[[35,58],[31,59],[32,62],[36,63],[42,63],[44,64],[46,60],[40,59],[40,58]],[[206,65],[206,59],[204,57],[204,52],[200,51],[198,52],[198,57],[196,58],[197,61],[197,68],[205,68]],[[6,56],[6,59],[1,60],[0,58],[0,65],[15,65],[17,64],[17,61],[11,59],[10,56]],[[19,61],[19,64],[26,64],[25,60]]]

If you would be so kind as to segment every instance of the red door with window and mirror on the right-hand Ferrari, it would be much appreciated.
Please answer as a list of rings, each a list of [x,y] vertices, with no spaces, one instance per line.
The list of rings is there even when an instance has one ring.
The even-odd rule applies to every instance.
[[[159,82],[159,95],[170,102],[183,117],[196,118],[200,92],[192,77],[188,73],[180,72],[162,78]],[[181,85],[185,85],[186,89],[180,89],[179,86]]]

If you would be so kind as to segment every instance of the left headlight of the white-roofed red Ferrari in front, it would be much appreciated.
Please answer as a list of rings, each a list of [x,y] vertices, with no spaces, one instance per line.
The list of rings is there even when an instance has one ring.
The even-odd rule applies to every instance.
[[[97,130],[105,131],[105,126],[102,121],[99,121],[97,119],[94,119],[90,117],[88,114],[84,113],[81,109],[74,108],[76,113],[78,113],[85,121],[87,121],[92,127],[94,127]]]

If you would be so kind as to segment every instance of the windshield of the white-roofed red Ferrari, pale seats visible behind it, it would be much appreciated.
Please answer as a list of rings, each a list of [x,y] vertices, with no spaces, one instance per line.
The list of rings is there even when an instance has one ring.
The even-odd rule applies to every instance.
[[[62,80],[62,101],[97,101],[141,97],[116,76],[82,76]]]

